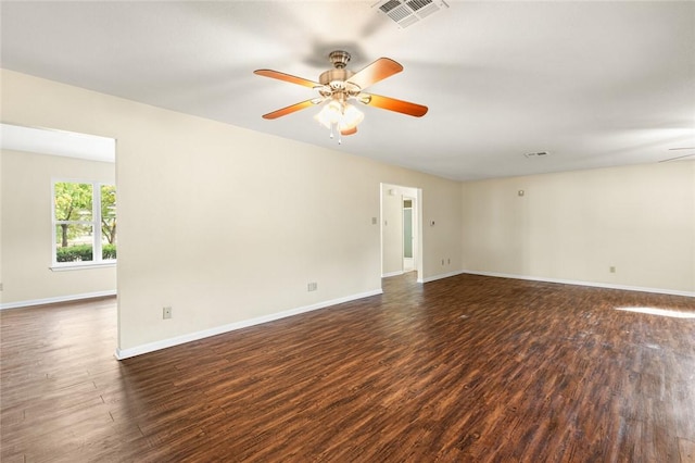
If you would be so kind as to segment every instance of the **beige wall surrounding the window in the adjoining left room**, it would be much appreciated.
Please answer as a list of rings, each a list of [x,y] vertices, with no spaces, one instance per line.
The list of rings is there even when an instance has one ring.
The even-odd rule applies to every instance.
[[[2,151],[0,163],[2,306],[114,292],[115,267],[53,272],[50,266],[51,180],[113,183],[115,166],[16,151]]]

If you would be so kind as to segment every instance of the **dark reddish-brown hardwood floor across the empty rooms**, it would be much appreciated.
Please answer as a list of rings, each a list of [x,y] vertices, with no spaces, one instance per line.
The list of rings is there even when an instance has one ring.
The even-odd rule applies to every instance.
[[[0,460],[695,462],[695,299],[383,286],[123,362],[114,299],[2,311]]]

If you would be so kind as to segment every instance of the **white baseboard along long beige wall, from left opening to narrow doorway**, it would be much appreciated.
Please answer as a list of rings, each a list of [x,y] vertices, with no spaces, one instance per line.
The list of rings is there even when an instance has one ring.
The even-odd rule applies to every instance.
[[[222,335],[224,333],[233,331],[236,329],[248,328],[250,326],[261,325],[263,323],[274,322],[276,320],[285,318],[288,316],[299,315],[301,313],[311,312],[318,309],[325,309],[330,305],[341,304],[343,302],[350,302],[357,299],[368,298],[370,296],[377,296],[381,293],[383,293],[383,290],[379,288],[372,291],[346,296],[344,298],[338,298],[330,301],[318,302],[312,305],[304,305],[301,308],[290,309],[282,312],[257,316],[255,318],[242,320],[240,322],[235,322],[235,323],[217,326],[210,329],[203,329],[202,331],[190,333],[188,335],[181,335],[175,338],[163,339],[161,341],[149,342],[147,345],[136,346],[134,348],[128,348],[128,349],[117,348],[115,352],[115,356],[118,360],[124,360],[131,356],[141,355],[143,353],[154,352],[156,350],[166,349],[166,348],[182,345],[186,342],[197,341],[203,338],[208,338],[211,336]]]

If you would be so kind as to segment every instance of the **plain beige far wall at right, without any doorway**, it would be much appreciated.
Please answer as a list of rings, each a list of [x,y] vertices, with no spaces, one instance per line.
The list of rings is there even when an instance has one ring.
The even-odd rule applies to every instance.
[[[695,162],[465,183],[463,201],[467,271],[695,291]]]

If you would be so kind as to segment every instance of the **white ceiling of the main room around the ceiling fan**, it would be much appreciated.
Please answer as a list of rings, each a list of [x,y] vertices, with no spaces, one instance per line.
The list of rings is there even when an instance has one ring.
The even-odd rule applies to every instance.
[[[695,2],[448,1],[406,28],[374,1],[10,2],[1,65],[455,179],[652,163],[695,147]],[[368,91],[429,107],[364,107],[338,146],[315,97],[253,74],[317,80],[331,50],[404,71]],[[2,121],[12,123],[12,121]],[[526,153],[548,157],[527,159]]]

